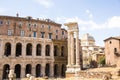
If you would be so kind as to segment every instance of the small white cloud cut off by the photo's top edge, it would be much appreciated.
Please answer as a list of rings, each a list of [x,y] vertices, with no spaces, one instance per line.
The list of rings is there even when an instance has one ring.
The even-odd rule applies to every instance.
[[[54,6],[53,0],[35,0],[35,1],[37,1],[41,6],[45,8],[50,8]]]

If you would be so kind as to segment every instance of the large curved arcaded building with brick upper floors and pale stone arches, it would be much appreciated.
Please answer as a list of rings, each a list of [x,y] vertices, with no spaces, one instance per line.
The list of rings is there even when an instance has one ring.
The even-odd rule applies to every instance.
[[[67,64],[67,31],[50,19],[0,16],[0,79],[10,69],[17,78],[64,77]]]

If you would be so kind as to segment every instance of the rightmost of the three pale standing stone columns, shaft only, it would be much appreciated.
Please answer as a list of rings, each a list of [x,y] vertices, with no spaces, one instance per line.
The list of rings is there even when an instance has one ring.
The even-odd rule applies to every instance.
[[[80,65],[80,54],[79,54],[79,35],[78,31],[76,32],[76,65]]]

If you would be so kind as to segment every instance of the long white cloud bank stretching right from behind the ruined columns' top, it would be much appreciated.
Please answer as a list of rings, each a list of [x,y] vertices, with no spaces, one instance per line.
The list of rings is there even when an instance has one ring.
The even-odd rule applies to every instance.
[[[67,22],[78,22],[78,25],[80,27],[80,30],[99,30],[99,29],[114,29],[114,28],[120,28],[120,16],[113,16],[111,18],[109,18],[108,20],[106,20],[104,23],[102,24],[98,24],[93,20],[82,20],[78,17],[74,17],[74,18],[57,18],[59,20],[57,20],[58,22],[60,22],[60,20],[62,21],[62,23],[67,23]]]

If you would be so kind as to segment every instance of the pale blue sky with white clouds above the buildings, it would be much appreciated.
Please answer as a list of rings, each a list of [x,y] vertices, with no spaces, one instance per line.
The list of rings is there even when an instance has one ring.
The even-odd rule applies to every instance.
[[[0,15],[49,18],[62,24],[76,21],[80,37],[89,33],[97,45],[120,35],[120,0],[1,0]]]

